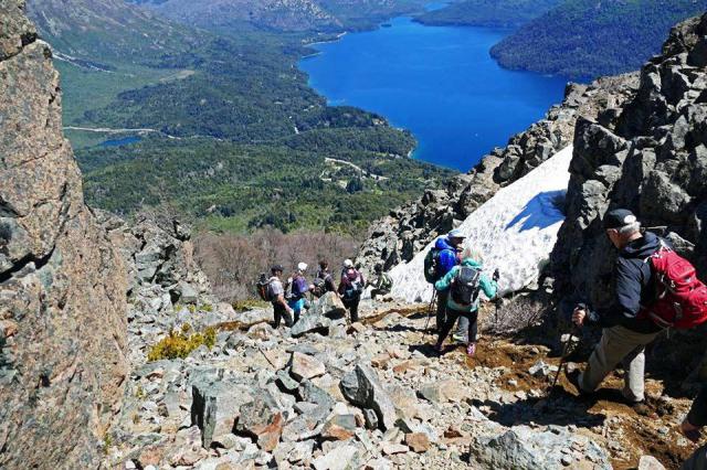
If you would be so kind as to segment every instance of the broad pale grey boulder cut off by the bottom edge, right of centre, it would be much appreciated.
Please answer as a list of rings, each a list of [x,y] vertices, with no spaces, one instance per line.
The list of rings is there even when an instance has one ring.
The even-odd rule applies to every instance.
[[[552,470],[611,469],[610,457],[589,438],[551,426],[540,431],[517,426],[494,438],[478,438],[471,447],[472,463],[482,468]]]

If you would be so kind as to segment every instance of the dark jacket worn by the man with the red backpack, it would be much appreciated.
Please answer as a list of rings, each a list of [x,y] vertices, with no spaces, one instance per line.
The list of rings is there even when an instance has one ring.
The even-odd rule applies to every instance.
[[[621,324],[636,333],[655,333],[661,330],[652,320],[637,318],[641,306],[655,298],[655,282],[647,258],[661,247],[661,238],[646,232],[642,238],[631,242],[616,257],[614,266],[615,297],[613,305],[590,312],[590,320],[602,328]]]

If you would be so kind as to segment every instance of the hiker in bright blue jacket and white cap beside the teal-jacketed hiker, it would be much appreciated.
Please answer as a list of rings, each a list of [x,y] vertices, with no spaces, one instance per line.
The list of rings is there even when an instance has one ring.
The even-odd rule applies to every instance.
[[[425,278],[429,282],[437,282],[446,276],[454,266],[458,265],[460,257],[457,253],[461,250],[465,238],[464,234],[458,229],[453,229],[445,236],[437,238],[434,247],[425,258]],[[445,316],[449,295],[449,290],[437,289],[437,333],[442,331],[442,328],[446,323]],[[457,341],[464,341],[466,339],[466,330],[468,330],[467,319],[466,317],[461,317],[460,324],[453,338]]]

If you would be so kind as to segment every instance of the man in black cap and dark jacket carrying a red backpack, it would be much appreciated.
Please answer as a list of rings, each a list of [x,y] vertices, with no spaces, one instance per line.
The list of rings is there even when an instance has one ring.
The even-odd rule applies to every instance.
[[[606,236],[619,249],[615,297],[608,309],[574,309],[572,321],[599,323],[602,338],[583,373],[570,375],[580,394],[594,392],[623,363],[623,396],[640,414],[647,414],[644,395],[645,346],[666,328],[690,328],[707,319],[707,288],[695,268],[655,234],[641,233],[636,216],[625,209],[609,211]]]

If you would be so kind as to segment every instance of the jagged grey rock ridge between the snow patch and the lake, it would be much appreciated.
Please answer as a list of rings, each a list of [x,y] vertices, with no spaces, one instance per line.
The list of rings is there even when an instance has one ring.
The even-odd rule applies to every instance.
[[[430,190],[374,223],[361,246],[358,261],[372,271],[376,264],[386,270],[410,261],[430,242],[461,224],[494,194],[528,174],[559,150],[572,143],[579,117],[610,124],[613,113],[633,98],[637,74],[600,78],[589,86],[570,84],[561,105],[545,119],[495,149],[467,174],[453,179],[446,188]]]

